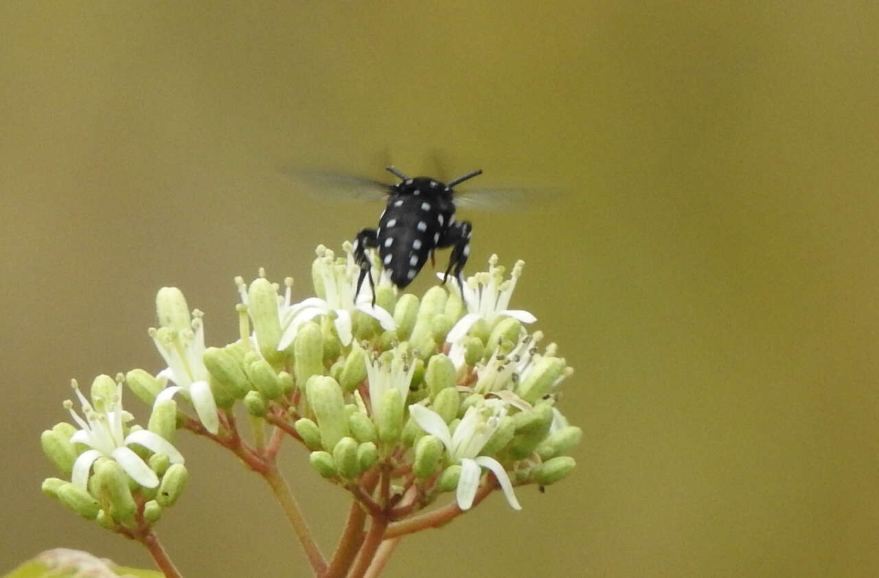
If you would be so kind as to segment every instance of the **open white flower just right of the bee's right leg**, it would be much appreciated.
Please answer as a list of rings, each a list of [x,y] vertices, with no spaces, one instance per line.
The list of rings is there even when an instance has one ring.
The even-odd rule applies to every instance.
[[[461,320],[448,332],[447,343],[459,341],[480,319],[484,319],[490,326],[503,316],[512,317],[523,323],[537,321],[533,314],[524,309],[507,309],[512,291],[516,288],[516,281],[519,280],[524,267],[524,261],[517,261],[512,268],[510,278],[504,280],[505,269],[498,266],[498,256],[492,255],[489,259],[489,271],[476,273],[461,287],[467,314],[461,317]],[[438,273],[438,276],[443,278],[441,273]],[[458,279],[452,279],[452,283],[457,285]]]

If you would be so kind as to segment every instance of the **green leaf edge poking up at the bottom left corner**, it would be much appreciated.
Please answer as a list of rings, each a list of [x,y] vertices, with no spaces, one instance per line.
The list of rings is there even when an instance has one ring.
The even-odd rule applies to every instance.
[[[33,560],[28,560],[5,574],[3,578],[73,578],[77,575],[94,578],[163,578],[163,574],[155,570],[117,566],[112,560],[67,548],[55,548],[40,553]]]

